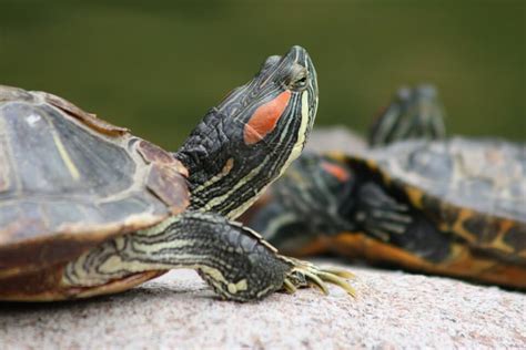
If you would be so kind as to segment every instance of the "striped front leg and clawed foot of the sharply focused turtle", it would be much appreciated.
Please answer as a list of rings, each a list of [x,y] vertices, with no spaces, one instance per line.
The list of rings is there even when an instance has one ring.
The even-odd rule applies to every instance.
[[[241,224],[218,214],[185,212],[146,230],[107,241],[70,262],[69,286],[98,286],[156,269],[193,268],[224,299],[249,301],[274,291],[324,282],[352,292],[347,272],[287,258]]]

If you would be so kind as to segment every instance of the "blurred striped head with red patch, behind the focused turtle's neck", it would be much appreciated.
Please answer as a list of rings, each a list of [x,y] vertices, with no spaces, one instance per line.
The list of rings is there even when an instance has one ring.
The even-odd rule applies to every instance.
[[[304,154],[269,189],[270,200],[245,224],[283,251],[310,250],[321,233],[355,228],[344,214],[355,185],[352,174],[337,161]]]

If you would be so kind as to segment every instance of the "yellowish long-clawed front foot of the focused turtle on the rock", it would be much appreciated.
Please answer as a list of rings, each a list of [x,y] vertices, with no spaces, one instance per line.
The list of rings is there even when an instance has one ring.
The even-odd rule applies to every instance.
[[[312,262],[286,258],[293,265],[291,271],[285,277],[283,289],[287,292],[294,292],[297,288],[317,287],[323,294],[328,295],[325,284],[340,286],[348,295],[355,297],[354,288],[345,280],[353,278],[354,275],[347,270],[334,267],[318,267]]]

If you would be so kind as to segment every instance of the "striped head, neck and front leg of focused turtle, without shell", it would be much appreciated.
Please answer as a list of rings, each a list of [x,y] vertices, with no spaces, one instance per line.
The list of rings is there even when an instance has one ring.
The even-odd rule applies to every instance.
[[[293,47],[283,58],[269,58],[251,82],[206,114],[174,154],[189,169],[188,210],[83,254],[67,265],[62,282],[85,288],[186,267],[220,296],[237,301],[312,284],[325,288],[324,280],[352,294],[342,279],[347,272],[281,256],[256,233],[230,222],[300,155],[316,107],[316,75],[306,51]]]

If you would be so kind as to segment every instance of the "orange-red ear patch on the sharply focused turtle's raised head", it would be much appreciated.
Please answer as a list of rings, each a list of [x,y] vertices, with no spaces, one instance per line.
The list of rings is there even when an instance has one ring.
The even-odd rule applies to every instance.
[[[279,94],[274,100],[269,101],[255,110],[243,132],[245,144],[252,145],[263,140],[266,134],[276,127],[277,121],[289,104],[289,100],[291,100],[291,92],[286,90]]]

